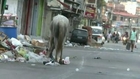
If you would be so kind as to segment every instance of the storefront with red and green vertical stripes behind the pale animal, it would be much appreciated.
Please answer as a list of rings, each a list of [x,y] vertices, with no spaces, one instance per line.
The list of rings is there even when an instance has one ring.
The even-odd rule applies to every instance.
[[[52,17],[57,14],[69,18],[72,30],[78,27],[84,12],[81,5],[76,0],[18,0],[18,32],[47,39]]]

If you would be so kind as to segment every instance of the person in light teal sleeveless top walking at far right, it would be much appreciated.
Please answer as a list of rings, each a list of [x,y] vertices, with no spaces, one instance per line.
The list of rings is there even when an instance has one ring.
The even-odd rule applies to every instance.
[[[132,28],[132,31],[130,32],[130,37],[129,37],[129,40],[130,40],[130,47],[131,47],[131,52],[133,52],[133,49],[135,47],[135,42],[137,42],[138,40],[138,35],[137,35],[137,32],[136,32],[136,28]]]

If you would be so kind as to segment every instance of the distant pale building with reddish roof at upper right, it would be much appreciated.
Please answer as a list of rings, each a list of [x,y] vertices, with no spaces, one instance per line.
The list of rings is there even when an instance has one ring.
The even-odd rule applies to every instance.
[[[132,2],[136,3],[136,2]],[[128,6],[129,4],[129,6]],[[125,31],[130,30],[132,26],[138,27],[139,17],[136,13],[136,5],[131,7],[130,10],[130,1],[123,1],[119,3],[114,3],[112,1],[108,2],[109,9],[111,9],[111,30],[112,31],[120,31],[124,33]]]

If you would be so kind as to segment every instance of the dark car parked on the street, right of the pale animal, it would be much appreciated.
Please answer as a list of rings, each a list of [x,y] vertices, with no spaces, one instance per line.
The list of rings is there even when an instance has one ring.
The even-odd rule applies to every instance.
[[[87,44],[88,42],[88,31],[85,29],[74,29],[71,32],[70,42]]]

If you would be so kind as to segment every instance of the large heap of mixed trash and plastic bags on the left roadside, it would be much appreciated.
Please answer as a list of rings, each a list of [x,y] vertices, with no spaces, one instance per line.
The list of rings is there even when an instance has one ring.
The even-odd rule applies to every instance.
[[[42,39],[33,39],[28,35],[7,38],[0,32],[0,61],[34,62],[47,61],[47,43]]]

